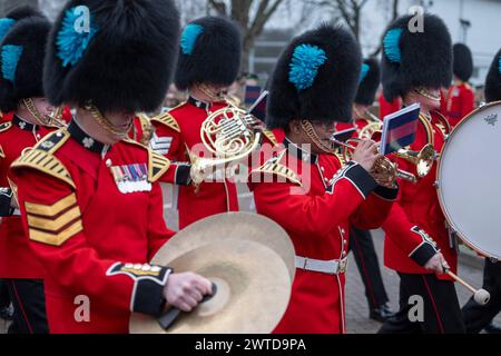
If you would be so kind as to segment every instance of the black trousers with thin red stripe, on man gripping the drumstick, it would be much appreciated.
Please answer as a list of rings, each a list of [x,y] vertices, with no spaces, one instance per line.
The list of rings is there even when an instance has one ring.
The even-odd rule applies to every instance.
[[[452,281],[440,280],[434,274],[400,276],[400,310],[387,319],[379,334],[464,334],[465,327]],[[412,322],[422,297],[422,319]]]

